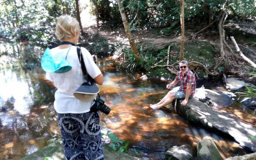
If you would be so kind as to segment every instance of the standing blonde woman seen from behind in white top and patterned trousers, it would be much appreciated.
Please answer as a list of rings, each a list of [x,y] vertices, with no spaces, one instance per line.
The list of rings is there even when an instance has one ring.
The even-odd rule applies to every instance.
[[[61,43],[50,50],[53,60],[66,59],[72,66],[72,69],[65,73],[46,73],[46,78],[57,88],[54,109],[59,118],[65,157],[67,160],[103,160],[99,113],[90,111],[94,101],[83,102],[73,95],[86,81],[76,50],[80,34],[78,21],[69,15],[60,16],[55,34]],[[103,75],[91,54],[83,47],[81,51],[87,73],[95,83],[102,85]]]

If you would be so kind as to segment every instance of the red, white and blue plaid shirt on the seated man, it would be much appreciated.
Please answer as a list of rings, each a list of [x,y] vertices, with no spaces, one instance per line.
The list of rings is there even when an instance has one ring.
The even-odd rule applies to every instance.
[[[191,91],[190,91],[190,96],[193,96],[195,94],[196,90],[196,77],[192,71],[188,69],[188,71],[182,75],[182,72],[179,71],[176,78],[176,81],[180,82],[180,89],[179,91],[183,92],[186,94],[187,91],[187,85],[192,85],[191,86]]]

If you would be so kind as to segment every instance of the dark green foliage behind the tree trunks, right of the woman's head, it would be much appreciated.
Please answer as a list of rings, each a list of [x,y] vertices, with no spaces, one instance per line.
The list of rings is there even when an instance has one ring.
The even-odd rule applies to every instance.
[[[215,20],[225,0],[187,0],[184,2],[186,27],[210,24]],[[162,34],[170,34],[180,27],[179,0],[123,0],[125,13],[131,30],[156,28]],[[229,0],[229,22],[254,19],[254,0]],[[100,20],[111,22],[110,27],[122,24],[117,1],[102,0],[99,3]]]

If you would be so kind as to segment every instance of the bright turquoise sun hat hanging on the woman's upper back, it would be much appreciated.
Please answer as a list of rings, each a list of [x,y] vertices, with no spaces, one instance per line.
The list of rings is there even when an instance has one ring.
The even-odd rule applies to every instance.
[[[68,52],[71,47],[69,47]],[[48,73],[65,73],[72,69],[72,66],[66,60],[68,53],[64,60],[54,61],[52,54],[50,53],[50,49],[47,48],[41,60],[41,66],[45,72]]]

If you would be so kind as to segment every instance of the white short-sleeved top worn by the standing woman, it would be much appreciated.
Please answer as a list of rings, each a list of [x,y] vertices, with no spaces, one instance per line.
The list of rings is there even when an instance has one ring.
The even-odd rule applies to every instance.
[[[59,61],[64,60],[69,48],[50,50],[53,60]],[[91,54],[87,49],[81,47],[84,64],[87,73],[94,79],[101,74],[98,66],[94,63]],[[54,85],[57,87],[55,92],[54,109],[57,113],[85,113],[90,111],[90,107],[93,105],[93,100],[90,102],[83,102],[76,99],[73,95],[74,91],[78,87],[86,82],[83,76],[80,62],[78,60],[78,55],[76,52],[76,46],[71,46],[67,59],[72,69],[65,73],[46,73],[46,78],[53,81]]]

